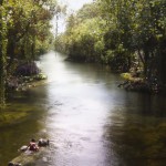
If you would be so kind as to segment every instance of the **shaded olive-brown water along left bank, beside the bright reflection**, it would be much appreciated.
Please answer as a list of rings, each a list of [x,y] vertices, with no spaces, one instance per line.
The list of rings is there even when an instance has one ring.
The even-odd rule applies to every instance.
[[[46,137],[43,124],[45,94],[43,86],[42,91],[33,89],[18,93],[8,101],[8,106],[4,112],[1,112],[1,116],[9,112],[19,116],[27,114],[27,117],[12,125],[0,127],[0,166],[7,166],[13,157],[19,155],[18,149],[22,145],[28,145],[31,138]]]

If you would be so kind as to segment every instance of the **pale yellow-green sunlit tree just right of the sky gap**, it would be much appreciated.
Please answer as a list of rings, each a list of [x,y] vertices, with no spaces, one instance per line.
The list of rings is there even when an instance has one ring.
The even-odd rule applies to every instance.
[[[100,61],[100,54],[104,51],[100,27],[104,20],[98,17],[96,8],[95,4],[86,4],[69,17],[66,32],[55,41],[56,50],[69,53],[74,61]]]

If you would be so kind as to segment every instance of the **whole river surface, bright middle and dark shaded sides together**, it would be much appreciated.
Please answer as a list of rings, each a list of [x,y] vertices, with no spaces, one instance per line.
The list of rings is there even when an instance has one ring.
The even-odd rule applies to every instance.
[[[31,137],[51,139],[37,166],[165,166],[166,98],[126,92],[118,75],[64,59],[43,55],[39,65],[49,83],[15,98],[13,110],[33,112],[0,128],[0,166]]]

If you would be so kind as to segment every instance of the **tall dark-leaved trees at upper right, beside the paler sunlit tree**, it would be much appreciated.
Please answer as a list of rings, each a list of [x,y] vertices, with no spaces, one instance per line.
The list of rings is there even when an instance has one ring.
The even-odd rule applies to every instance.
[[[120,56],[118,53],[115,55],[115,51],[122,44],[126,55],[138,54],[144,66],[144,76],[151,79],[160,64],[158,55],[163,50],[159,48],[165,42],[166,1],[97,0],[97,2],[108,27],[105,34],[113,32],[114,37],[117,37],[117,41],[114,38],[105,38],[106,49],[112,51],[115,59]],[[164,52],[162,54],[164,55]]]

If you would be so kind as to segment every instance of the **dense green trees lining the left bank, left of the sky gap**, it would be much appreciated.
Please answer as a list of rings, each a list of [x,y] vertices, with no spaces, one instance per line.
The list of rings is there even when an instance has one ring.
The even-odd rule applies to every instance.
[[[55,0],[0,1],[1,104],[6,101],[7,83],[11,84],[17,66],[24,64],[33,73],[33,61],[51,45],[51,20],[61,12],[56,7],[60,6]]]

